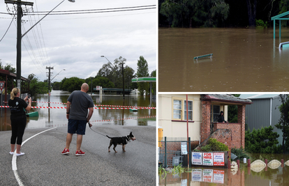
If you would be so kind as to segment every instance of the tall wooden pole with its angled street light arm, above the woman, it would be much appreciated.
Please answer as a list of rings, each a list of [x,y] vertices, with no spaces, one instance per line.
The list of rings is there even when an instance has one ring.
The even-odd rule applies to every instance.
[[[64,1],[65,0],[61,1],[61,3],[63,3]],[[73,3],[75,2],[75,0],[68,0],[68,1],[73,2]],[[48,14],[50,14],[61,3],[59,3],[57,6],[55,6],[55,8],[53,8],[49,13],[47,13],[38,22],[36,22],[36,24],[34,24],[23,35],[21,33],[21,17],[22,17],[22,8],[21,8],[21,6],[22,6],[22,4],[33,6],[33,3],[26,2],[26,1],[21,1],[21,0],[17,0],[17,1],[5,0],[5,3],[17,3],[17,45],[16,45],[16,47],[17,47],[17,56],[16,56],[17,78],[16,79],[17,79],[17,87],[21,91],[21,40],[22,40],[22,37],[25,36],[27,34],[27,32],[29,32],[34,26],[36,26],[36,24],[38,24],[41,20],[43,20],[44,17],[46,17]]]

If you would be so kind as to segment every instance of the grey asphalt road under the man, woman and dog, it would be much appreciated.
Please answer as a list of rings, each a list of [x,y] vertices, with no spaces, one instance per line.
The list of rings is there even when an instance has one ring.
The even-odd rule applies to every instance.
[[[24,139],[43,132],[29,129]],[[133,132],[136,137],[126,146],[126,153],[108,153],[110,139],[87,127],[82,141],[84,156],[75,156],[76,135],[70,155],[61,155],[66,144],[67,127],[57,127],[29,139],[17,157],[17,174],[23,185],[156,185],[156,127],[94,125],[93,130],[110,137]],[[10,131],[0,132],[1,185],[19,185],[12,169]]]

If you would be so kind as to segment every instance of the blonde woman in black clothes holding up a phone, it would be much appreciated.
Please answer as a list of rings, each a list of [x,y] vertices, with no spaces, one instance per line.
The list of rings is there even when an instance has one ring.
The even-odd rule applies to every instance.
[[[10,140],[11,151],[10,155],[14,154],[15,143],[17,139],[16,146],[16,155],[24,155],[24,153],[20,152],[22,137],[24,134],[24,130],[26,127],[26,113],[25,110],[30,111],[31,109],[31,98],[28,99],[28,95],[22,100],[19,98],[20,90],[19,88],[13,88],[10,93],[10,100],[8,101],[8,105],[11,111],[11,130],[12,136]],[[29,100],[29,104],[26,103],[27,99]]]

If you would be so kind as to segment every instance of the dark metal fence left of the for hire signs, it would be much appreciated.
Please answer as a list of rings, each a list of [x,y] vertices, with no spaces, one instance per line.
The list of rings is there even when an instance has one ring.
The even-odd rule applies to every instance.
[[[181,153],[181,143],[186,144],[187,154]],[[173,167],[191,166],[191,138],[168,138],[158,139],[158,166]]]

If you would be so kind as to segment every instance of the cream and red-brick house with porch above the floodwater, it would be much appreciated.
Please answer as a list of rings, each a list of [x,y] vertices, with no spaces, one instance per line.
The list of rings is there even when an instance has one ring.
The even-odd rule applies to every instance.
[[[205,145],[210,137],[229,149],[244,147],[246,104],[252,104],[251,100],[233,95],[188,95],[188,137],[192,148]],[[218,123],[220,111],[228,120],[228,105],[237,105],[238,122]],[[186,95],[159,94],[158,108],[158,125],[163,127],[163,137],[186,137]]]

